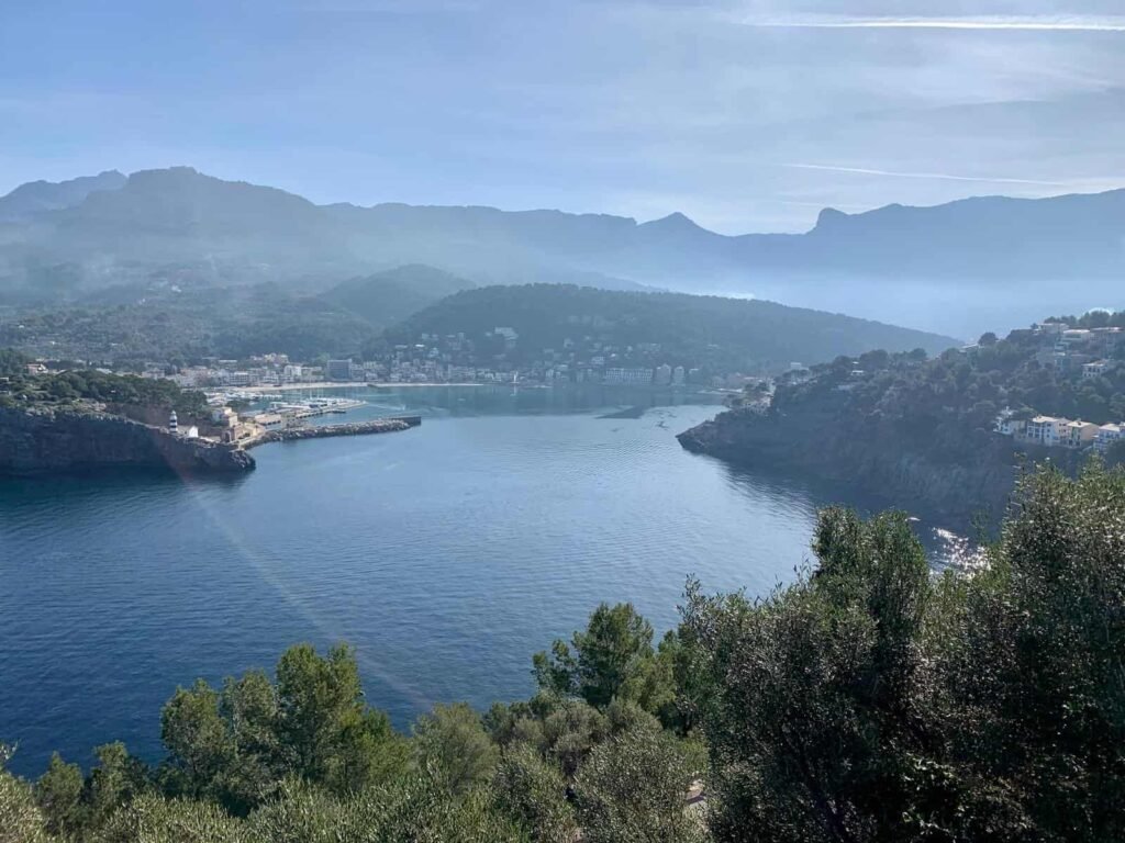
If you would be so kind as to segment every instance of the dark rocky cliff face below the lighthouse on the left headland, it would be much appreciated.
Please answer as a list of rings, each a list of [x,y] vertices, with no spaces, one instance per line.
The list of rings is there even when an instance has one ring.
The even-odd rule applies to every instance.
[[[254,460],[233,445],[172,436],[105,413],[0,408],[0,474],[110,466],[246,471]]]

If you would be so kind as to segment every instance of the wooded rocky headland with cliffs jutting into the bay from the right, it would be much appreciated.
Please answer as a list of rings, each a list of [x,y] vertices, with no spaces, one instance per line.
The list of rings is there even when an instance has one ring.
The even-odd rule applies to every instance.
[[[1086,324],[1122,325],[1125,312],[1089,316]],[[1095,332],[1083,341],[1091,347],[1056,355],[1061,336],[1020,329],[935,359],[882,350],[839,357],[780,379],[767,410],[734,409],[680,439],[732,462],[846,479],[963,520],[981,510],[994,517],[1022,454],[1030,447],[1035,459],[1047,456],[997,434],[1001,411],[1017,420],[1041,414],[1125,420],[1125,341]],[[1097,360],[1100,373],[1076,362],[1086,360]],[[1069,466],[1079,459],[1069,448],[1050,456]]]

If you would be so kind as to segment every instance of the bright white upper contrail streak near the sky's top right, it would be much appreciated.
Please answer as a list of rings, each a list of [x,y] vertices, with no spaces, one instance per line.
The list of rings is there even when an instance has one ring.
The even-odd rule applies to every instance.
[[[1125,33],[1125,17],[821,17],[742,18],[744,26],[767,29],[989,29],[1048,33]]]

